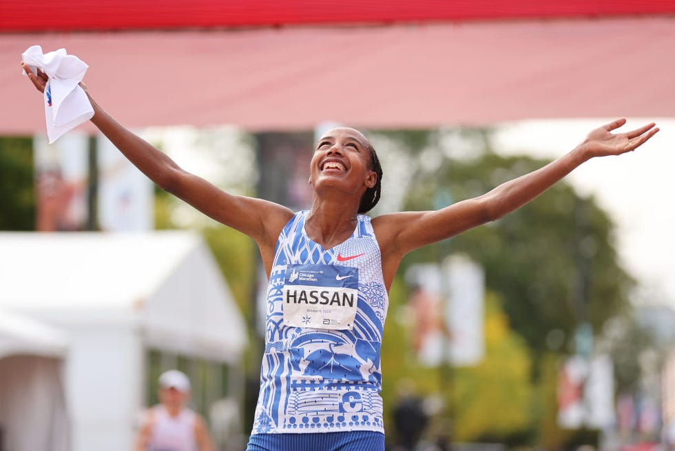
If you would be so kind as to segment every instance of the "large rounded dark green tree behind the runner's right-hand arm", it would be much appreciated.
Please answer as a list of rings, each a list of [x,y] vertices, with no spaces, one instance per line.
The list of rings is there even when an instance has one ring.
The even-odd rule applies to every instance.
[[[486,192],[544,163],[486,154],[478,164],[455,162],[446,177],[453,193],[470,183]],[[488,288],[506,299],[513,328],[541,353],[550,331],[562,330],[571,344],[580,321],[599,332],[629,305],[632,279],[619,265],[613,228],[593,199],[561,182],[490,226],[460,235],[452,246],[484,266]]]

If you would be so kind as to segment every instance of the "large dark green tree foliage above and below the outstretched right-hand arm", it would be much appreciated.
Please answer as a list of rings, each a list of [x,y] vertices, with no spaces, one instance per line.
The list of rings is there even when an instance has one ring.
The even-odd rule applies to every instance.
[[[495,154],[486,130],[463,130],[460,138],[472,151],[444,148],[440,132],[428,132],[426,139],[413,134],[411,142],[423,147],[408,148],[415,175],[404,209],[430,210],[477,197],[548,163]],[[437,161],[429,165],[424,160],[432,153]],[[552,331],[562,331],[571,346],[579,323],[589,321],[597,333],[628,309],[634,281],[619,264],[614,224],[592,197],[581,197],[565,181],[498,221],[413,252],[399,273],[449,252],[468,254],[484,267],[487,288],[503,296],[510,325],[537,354],[550,346]]]

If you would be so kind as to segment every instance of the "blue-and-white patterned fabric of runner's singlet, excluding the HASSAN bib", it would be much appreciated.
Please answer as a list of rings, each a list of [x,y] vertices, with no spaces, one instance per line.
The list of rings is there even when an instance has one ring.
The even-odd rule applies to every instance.
[[[388,297],[370,218],[360,215],[349,239],[324,250],[304,232],[306,214],[296,213],[277,241],[252,433],[384,432],[380,345]],[[283,325],[282,288],[291,264],[359,269],[358,310],[352,330]]]

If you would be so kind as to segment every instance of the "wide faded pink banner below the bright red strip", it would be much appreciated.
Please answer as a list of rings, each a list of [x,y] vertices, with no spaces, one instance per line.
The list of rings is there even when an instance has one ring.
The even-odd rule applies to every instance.
[[[0,133],[45,130],[21,52],[64,47],[127,126],[426,128],[675,117],[675,19],[5,34]]]

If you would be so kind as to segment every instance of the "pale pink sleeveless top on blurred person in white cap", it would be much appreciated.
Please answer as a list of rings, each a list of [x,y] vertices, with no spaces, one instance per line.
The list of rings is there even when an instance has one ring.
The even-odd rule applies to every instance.
[[[184,409],[172,417],[163,405],[153,408],[154,421],[147,443],[148,451],[195,451],[195,413]]]

